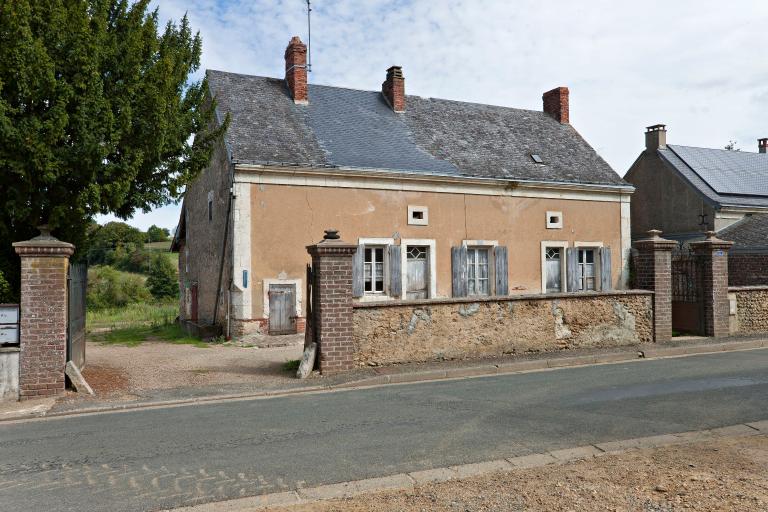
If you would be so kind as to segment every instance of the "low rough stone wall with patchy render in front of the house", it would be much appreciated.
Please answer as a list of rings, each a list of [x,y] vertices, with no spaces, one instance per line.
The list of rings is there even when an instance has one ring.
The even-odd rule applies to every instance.
[[[386,365],[648,343],[651,301],[632,291],[361,303],[354,360]]]

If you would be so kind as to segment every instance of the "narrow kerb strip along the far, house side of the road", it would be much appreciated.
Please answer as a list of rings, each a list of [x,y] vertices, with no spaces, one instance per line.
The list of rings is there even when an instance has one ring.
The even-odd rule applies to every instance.
[[[504,361],[498,364],[479,364],[463,368],[430,369],[414,372],[392,373],[388,375],[376,375],[363,379],[343,382],[340,384],[304,386],[294,389],[282,389],[274,391],[262,391],[254,393],[241,393],[229,395],[212,395],[206,397],[186,398],[178,400],[165,400],[144,403],[115,404],[102,407],[90,407],[69,411],[25,411],[19,415],[0,415],[0,423],[8,421],[24,421],[41,418],[54,418],[73,416],[80,414],[101,414],[108,412],[124,412],[136,409],[157,409],[163,407],[181,407],[209,402],[254,400],[276,398],[281,396],[322,393],[329,391],[342,391],[351,389],[371,388],[389,384],[410,384],[417,382],[429,382],[447,379],[464,379],[472,377],[488,377],[499,374],[522,373],[530,371],[544,371],[556,368],[585,366],[592,364],[611,364],[642,361],[647,359],[662,359],[666,357],[682,357],[699,354],[716,354],[718,352],[732,352],[742,350],[756,350],[768,348],[768,339],[756,339],[745,341],[726,341],[722,343],[704,343],[679,346],[638,347],[637,351],[613,352],[606,354],[574,355],[567,357],[550,357],[541,359],[528,359],[521,361]]]

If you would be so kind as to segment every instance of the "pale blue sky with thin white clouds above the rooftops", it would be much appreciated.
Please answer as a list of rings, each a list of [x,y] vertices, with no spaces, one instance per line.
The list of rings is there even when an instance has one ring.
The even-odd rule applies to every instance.
[[[202,69],[282,77],[289,39],[307,39],[305,0],[154,5],[163,20],[188,14]],[[379,90],[396,64],[406,94],[537,110],[544,91],[567,86],[571,124],[619,175],[652,124],[667,125],[670,144],[757,151],[768,137],[765,0],[315,0],[312,9],[310,83]],[[173,229],[178,213],[128,222]]]

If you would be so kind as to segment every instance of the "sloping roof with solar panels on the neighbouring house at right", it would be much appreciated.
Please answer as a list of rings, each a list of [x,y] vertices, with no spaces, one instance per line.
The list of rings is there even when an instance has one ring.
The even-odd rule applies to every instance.
[[[768,207],[768,154],[667,145],[659,155],[717,207]]]

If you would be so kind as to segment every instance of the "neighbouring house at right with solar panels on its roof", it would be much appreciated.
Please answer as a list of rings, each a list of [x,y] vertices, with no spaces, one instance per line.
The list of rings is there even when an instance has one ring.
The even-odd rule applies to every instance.
[[[734,242],[731,285],[768,284],[768,138],[758,152],[667,144],[649,126],[643,151],[624,176],[632,197],[632,237],[660,229],[681,244],[717,237]]]

